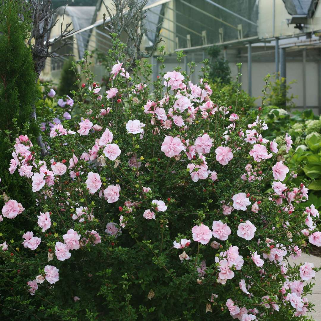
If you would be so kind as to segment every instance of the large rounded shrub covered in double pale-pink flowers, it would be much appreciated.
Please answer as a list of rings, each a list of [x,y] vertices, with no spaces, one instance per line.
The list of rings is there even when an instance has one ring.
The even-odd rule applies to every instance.
[[[193,84],[180,67],[162,72],[160,48],[151,83],[151,65],[129,73],[122,48],[115,40],[109,52],[106,92],[87,57],[79,62],[81,100],[59,99],[42,124],[48,155],[23,133],[13,143],[9,171],[25,177],[37,207],[3,195],[1,221],[26,223],[1,234],[2,314],[307,319],[319,268],[288,259],[321,246],[319,213],[305,206],[307,182],[293,180],[291,156],[264,138],[263,104],[249,122],[209,99],[207,61]],[[289,151],[291,136],[282,143]]]

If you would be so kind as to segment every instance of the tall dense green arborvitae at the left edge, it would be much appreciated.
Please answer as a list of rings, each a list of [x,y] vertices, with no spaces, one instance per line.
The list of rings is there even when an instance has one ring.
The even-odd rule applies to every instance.
[[[8,186],[6,192],[11,198],[21,193],[18,172],[11,175],[8,171],[12,158],[6,142],[6,130],[11,141],[17,137],[13,123],[22,130],[19,134],[36,137],[39,126],[33,121],[30,125],[32,106],[38,91],[36,73],[30,48],[26,39],[30,35],[32,23],[28,17],[28,7],[24,1],[3,0],[0,5],[0,173],[1,185]],[[25,126],[26,125],[26,126]],[[26,131],[26,128],[29,128]]]

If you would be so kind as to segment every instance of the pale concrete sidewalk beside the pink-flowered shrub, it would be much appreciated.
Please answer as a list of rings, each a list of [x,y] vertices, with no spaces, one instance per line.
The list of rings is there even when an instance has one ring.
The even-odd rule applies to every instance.
[[[302,254],[301,257],[297,258],[296,260],[289,260],[290,264],[300,264],[304,262],[313,263],[314,266],[319,267],[321,266],[321,257]],[[292,264],[291,264],[292,265]],[[315,321],[321,321],[321,271],[316,273],[316,278],[314,280],[315,286],[312,288],[312,294],[307,296],[307,299],[314,303],[315,311],[312,311],[310,315],[314,318]]]

